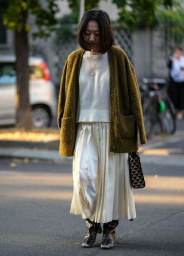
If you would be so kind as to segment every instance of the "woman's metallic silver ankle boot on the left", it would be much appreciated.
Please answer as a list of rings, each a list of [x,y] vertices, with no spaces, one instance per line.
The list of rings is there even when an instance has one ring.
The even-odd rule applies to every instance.
[[[102,233],[102,227],[100,223],[95,223],[89,219],[86,219],[87,232],[85,235],[85,239],[83,240],[82,247],[90,247],[94,244],[97,233]]]

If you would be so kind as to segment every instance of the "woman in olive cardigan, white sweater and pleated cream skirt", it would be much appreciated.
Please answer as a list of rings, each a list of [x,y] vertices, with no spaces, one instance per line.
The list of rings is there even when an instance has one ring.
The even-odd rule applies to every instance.
[[[139,87],[127,55],[114,47],[110,19],[87,11],[79,24],[81,49],[64,66],[58,125],[60,155],[74,156],[70,213],[86,219],[82,243],[90,247],[102,232],[103,249],[114,246],[118,219],[135,219],[128,152],[146,142]]]

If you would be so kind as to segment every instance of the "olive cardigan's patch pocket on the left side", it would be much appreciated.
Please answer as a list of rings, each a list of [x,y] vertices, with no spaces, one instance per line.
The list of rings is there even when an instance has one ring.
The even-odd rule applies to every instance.
[[[75,133],[75,123],[73,127],[74,120],[72,117],[62,118],[62,126],[60,129],[60,141],[70,142],[73,138],[73,133]]]

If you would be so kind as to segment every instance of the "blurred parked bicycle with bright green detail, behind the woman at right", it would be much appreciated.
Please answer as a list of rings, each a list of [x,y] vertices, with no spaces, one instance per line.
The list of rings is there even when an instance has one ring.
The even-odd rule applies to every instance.
[[[150,138],[155,133],[156,127],[159,127],[161,133],[174,134],[176,111],[167,94],[166,80],[144,78],[140,92],[147,137]]]

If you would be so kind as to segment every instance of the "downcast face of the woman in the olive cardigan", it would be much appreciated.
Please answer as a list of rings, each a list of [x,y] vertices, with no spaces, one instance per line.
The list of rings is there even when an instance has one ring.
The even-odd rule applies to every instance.
[[[97,21],[90,20],[87,22],[84,32],[85,41],[90,51],[99,52],[100,49],[100,34]]]

